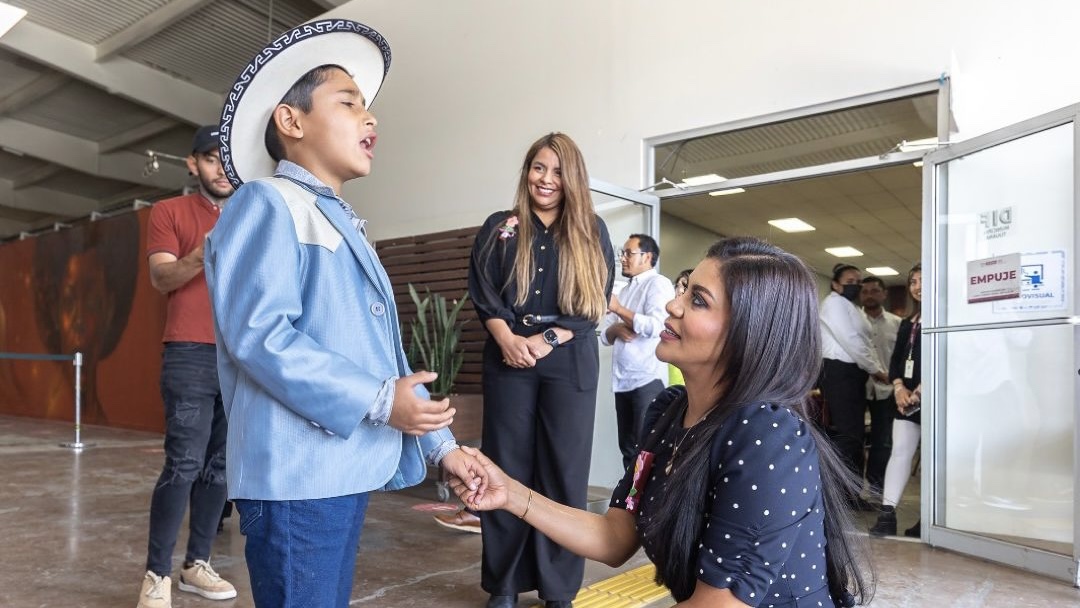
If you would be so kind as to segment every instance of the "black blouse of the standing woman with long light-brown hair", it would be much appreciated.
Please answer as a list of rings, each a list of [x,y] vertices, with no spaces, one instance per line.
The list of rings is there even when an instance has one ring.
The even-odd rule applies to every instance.
[[[515,306],[517,285],[514,281],[514,256],[517,255],[518,232],[515,227],[508,227],[507,221],[512,213],[502,211],[491,214],[473,244],[472,259],[469,262],[469,297],[476,307],[481,323],[489,319],[502,319],[510,328],[518,335],[531,336],[539,334],[551,325],[557,325],[573,332],[573,340],[567,346],[592,339],[597,323],[582,316],[565,315],[558,309],[558,246],[555,244],[555,231],[545,227],[536,214],[529,213],[528,221],[532,221],[535,238],[532,240],[532,260],[536,264],[532,284],[529,285],[529,296],[521,307]],[[525,220],[523,220],[525,221]],[[615,283],[615,254],[607,226],[598,216],[600,242],[597,244],[604,252],[604,260],[608,268],[607,282],[604,285],[605,303],[611,297],[611,286]],[[526,326],[519,322],[525,314],[561,315],[553,324]]]

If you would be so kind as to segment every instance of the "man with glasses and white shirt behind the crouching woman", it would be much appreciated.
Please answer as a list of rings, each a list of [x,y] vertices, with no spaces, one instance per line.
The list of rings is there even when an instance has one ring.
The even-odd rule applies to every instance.
[[[667,365],[657,359],[657,343],[667,319],[675,287],[656,270],[660,246],[648,234],[631,234],[619,253],[622,275],[630,284],[611,295],[600,321],[600,342],[613,346],[611,388],[615,391],[619,450],[623,468],[637,456],[642,419],[652,398],[663,390]]]

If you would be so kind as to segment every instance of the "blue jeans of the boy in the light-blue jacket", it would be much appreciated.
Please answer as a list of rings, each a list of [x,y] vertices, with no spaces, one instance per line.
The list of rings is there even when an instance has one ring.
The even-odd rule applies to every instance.
[[[255,606],[347,607],[368,496],[234,500]]]

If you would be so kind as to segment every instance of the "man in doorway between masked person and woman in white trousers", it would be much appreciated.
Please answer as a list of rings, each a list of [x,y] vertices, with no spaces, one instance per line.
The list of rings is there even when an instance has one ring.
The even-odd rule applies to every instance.
[[[885,310],[885,281],[877,276],[863,279],[859,300],[863,305],[866,321],[870,324],[870,342],[874,343],[874,351],[881,364],[888,367],[892,360],[892,350],[896,346],[900,317]],[[892,417],[896,409],[892,391],[892,384],[879,382],[874,378],[866,380],[866,402],[870,410],[870,449],[866,460],[866,483],[875,492],[880,492],[885,484],[885,468],[892,451]]]

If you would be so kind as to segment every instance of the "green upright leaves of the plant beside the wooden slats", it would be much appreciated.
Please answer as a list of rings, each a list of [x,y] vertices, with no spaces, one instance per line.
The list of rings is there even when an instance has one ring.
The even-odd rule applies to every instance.
[[[424,288],[426,295],[420,298],[411,283],[408,285],[408,294],[416,305],[416,320],[410,326],[411,339],[407,353],[409,365],[414,369],[438,374],[429,390],[431,398],[443,398],[454,390],[454,381],[464,361],[460,341],[461,327],[465,322],[458,322],[458,313],[469,299],[469,294],[465,293],[451,302],[442,294],[432,294]]]

